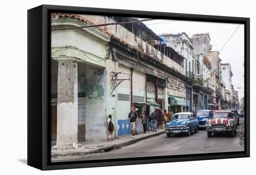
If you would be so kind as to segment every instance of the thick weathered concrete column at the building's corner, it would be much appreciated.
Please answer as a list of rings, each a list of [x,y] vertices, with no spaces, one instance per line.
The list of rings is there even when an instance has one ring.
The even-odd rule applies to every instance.
[[[73,149],[78,142],[77,63],[81,60],[64,57],[58,62],[57,142],[53,150]]]

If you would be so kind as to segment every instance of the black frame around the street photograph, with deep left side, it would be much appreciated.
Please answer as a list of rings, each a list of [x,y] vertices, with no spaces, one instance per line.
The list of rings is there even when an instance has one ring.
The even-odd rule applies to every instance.
[[[91,160],[79,162],[50,162],[50,13],[65,12],[75,14],[115,15],[140,18],[175,19],[187,21],[219,22],[244,24],[244,110],[245,118],[245,150],[229,153],[209,153],[179,156],[156,156],[141,158],[125,158],[114,160]],[[74,169],[130,164],[180,162],[209,159],[249,157],[249,18],[209,16],[196,14],[180,14],[167,12],[146,12],[89,8],[76,6],[41,5],[27,11],[27,164],[41,170]]]

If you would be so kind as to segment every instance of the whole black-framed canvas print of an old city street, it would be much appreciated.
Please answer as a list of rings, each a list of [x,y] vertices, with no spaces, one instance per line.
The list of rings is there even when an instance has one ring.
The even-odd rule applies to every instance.
[[[249,157],[249,18],[28,10],[27,164]]]

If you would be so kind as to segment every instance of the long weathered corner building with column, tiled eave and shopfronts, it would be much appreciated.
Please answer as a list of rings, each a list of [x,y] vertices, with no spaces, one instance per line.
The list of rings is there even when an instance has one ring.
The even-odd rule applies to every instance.
[[[126,121],[131,106],[140,109],[139,121],[142,111],[149,115],[156,110],[159,121],[164,109],[183,111],[184,61],[173,49],[169,53],[161,50],[155,43],[162,39],[145,25],[66,30],[120,19],[62,13],[51,16],[53,149],[69,149],[77,141],[106,139],[109,114],[115,121],[114,137],[130,134]]]

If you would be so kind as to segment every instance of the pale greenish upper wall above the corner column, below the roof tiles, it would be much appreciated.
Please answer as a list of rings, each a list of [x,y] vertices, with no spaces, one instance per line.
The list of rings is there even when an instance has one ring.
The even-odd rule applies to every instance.
[[[77,19],[52,19],[52,26],[84,26]],[[51,31],[51,57],[71,56],[86,63],[105,67],[109,37],[98,30],[83,28],[70,31]]]

